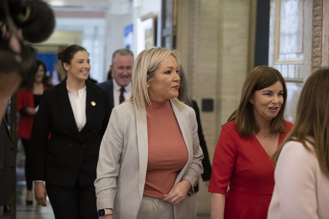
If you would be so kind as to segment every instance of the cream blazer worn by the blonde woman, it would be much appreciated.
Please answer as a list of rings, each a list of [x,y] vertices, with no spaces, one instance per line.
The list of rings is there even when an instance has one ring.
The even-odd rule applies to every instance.
[[[199,146],[193,108],[179,110],[171,101],[182,136],[188,149],[188,161],[175,184],[182,179],[191,182],[189,193],[203,173],[203,153]],[[148,165],[148,129],[145,108],[125,102],[113,108],[103,136],[95,180],[97,209],[112,208],[113,217],[136,218],[143,196]],[[174,205],[175,218],[192,218],[189,198]],[[189,215],[191,214],[191,215]]]

